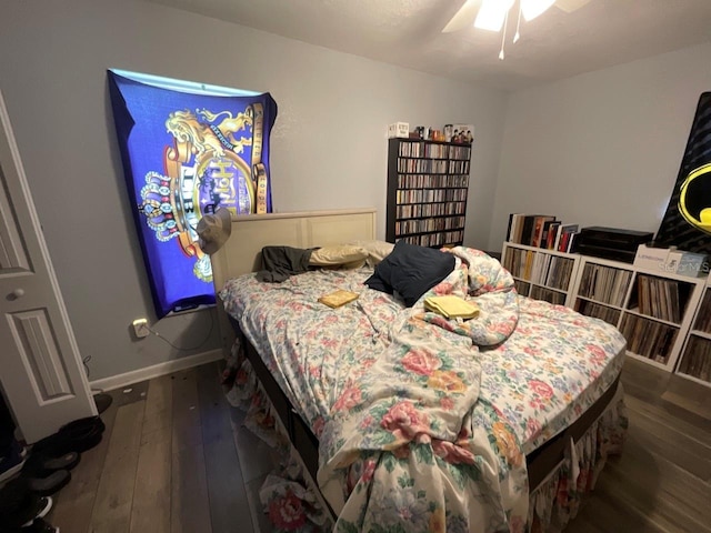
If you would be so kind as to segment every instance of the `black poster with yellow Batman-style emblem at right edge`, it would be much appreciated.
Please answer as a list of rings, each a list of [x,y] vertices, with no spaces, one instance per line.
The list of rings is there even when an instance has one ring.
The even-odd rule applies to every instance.
[[[691,133],[657,243],[711,253],[711,92],[699,98]]]

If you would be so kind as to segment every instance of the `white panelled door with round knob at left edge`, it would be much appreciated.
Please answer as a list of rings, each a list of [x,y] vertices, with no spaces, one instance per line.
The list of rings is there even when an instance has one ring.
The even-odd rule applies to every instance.
[[[28,443],[97,414],[2,93],[0,383]]]

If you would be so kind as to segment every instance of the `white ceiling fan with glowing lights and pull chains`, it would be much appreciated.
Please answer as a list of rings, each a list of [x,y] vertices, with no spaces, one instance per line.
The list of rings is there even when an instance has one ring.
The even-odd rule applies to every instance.
[[[527,22],[531,21],[553,4],[568,13],[572,13],[590,2],[590,0],[467,0],[459,11],[454,13],[454,17],[447,23],[442,33],[463,30],[472,26],[490,31],[501,31],[503,28],[501,51],[499,52],[499,59],[503,59],[503,41],[505,40],[509,11],[517,1],[519,13],[513,42],[517,42],[520,37],[519,27],[521,24],[521,17],[523,17]]]

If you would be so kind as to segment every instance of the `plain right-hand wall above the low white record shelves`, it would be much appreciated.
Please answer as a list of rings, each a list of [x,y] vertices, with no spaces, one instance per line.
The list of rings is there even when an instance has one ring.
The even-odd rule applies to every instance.
[[[657,232],[711,44],[591,72],[510,97],[489,247],[512,212]]]

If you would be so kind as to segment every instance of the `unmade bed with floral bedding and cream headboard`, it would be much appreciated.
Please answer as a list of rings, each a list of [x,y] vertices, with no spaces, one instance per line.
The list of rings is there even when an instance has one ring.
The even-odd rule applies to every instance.
[[[368,268],[249,274],[264,245],[371,240],[374,222],[372,210],[233,219],[212,257],[224,348],[242,346],[336,530],[562,527],[622,444],[624,340],[519,298],[495,260],[461,247],[432,291],[475,294],[482,316],[464,323],[364,288]],[[360,298],[317,302],[333,289]]]

